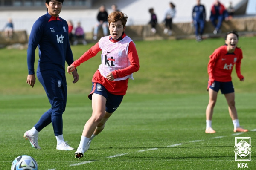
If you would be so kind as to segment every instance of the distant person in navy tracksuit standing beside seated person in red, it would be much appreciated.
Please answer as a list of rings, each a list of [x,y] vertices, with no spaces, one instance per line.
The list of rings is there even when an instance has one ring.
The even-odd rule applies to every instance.
[[[194,6],[192,11],[193,24],[195,26],[195,36],[197,41],[202,40],[202,34],[204,32],[204,24],[205,24],[205,7],[200,4],[200,0],[197,0],[197,5]],[[200,30],[200,31],[199,31]]]

